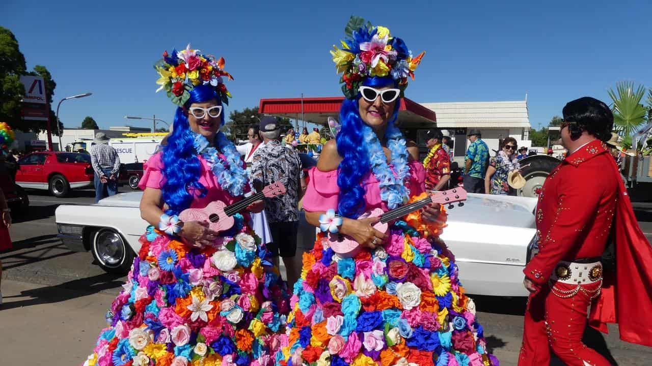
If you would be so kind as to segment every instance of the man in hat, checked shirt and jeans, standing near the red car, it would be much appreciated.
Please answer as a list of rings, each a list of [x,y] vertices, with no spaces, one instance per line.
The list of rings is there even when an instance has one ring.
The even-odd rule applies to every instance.
[[[98,132],[93,140],[95,145],[91,147],[91,165],[95,171],[95,203],[118,193],[120,157],[115,148],[109,145],[109,140],[104,132]]]

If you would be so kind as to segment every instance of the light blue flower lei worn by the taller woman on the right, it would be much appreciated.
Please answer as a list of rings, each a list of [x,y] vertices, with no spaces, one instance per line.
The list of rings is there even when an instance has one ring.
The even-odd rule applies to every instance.
[[[393,133],[391,130],[394,130]],[[398,129],[388,128],[387,133],[389,134],[387,148],[391,151],[394,171],[387,165],[385,152],[374,130],[366,124],[363,126],[364,145],[367,147],[371,171],[380,185],[380,198],[387,203],[390,210],[393,210],[401,204],[408,203],[409,200],[409,189],[404,183],[409,174],[408,147]]]

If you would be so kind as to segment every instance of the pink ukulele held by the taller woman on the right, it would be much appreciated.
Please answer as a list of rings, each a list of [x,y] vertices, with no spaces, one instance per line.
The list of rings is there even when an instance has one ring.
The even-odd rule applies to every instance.
[[[464,188],[453,188],[452,190],[441,191],[441,192],[432,192],[430,195],[419,201],[415,201],[405,206],[395,208],[394,210],[383,212],[380,208],[374,208],[371,212],[365,212],[360,216],[361,219],[364,218],[378,218],[380,221],[374,224],[374,229],[380,232],[387,232],[389,223],[395,219],[402,218],[410,212],[414,212],[428,206],[431,203],[441,203],[449,204],[448,208],[451,209],[454,206],[452,203],[461,202],[466,200],[466,191]],[[458,204],[458,206],[464,206],[464,203]],[[354,257],[360,249],[360,244],[353,240],[351,236],[344,234],[331,234],[328,236],[329,246],[333,248],[335,253],[338,253],[342,257]]]

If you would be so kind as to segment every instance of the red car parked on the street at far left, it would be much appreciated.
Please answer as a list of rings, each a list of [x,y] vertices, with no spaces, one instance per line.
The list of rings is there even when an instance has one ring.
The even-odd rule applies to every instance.
[[[72,188],[93,186],[91,156],[79,152],[33,152],[18,160],[16,184],[22,188],[49,190],[65,197]]]

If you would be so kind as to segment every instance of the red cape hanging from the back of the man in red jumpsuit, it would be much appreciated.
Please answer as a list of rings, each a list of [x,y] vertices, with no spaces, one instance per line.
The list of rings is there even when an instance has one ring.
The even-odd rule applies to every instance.
[[[652,247],[634,216],[620,172],[612,238],[615,238],[614,274],[605,274],[602,294],[591,306],[589,324],[608,333],[606,323],[618,323],[620,339],[652,346]],[[596,177],[599,179],[599,177]]]

